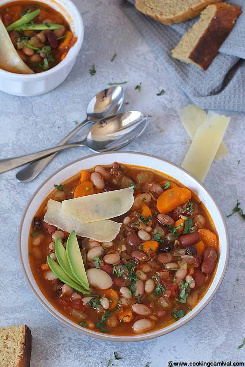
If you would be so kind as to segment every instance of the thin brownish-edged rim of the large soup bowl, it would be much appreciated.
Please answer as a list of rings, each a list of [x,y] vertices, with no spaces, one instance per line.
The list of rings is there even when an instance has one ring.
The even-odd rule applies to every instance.
[[[30,204],[32,203],[32,200],[34,199],[34,197],[37,195],[37,193],[39,192],[39,190],[52,178],[54,177],[58,172],[64,170],[66,167],[71,166],[74,163],[78,163],[80,161],[83,161],[87,158],[90,157],[98,157],[98,156],[103,156],[103,155],[108,155],[108,154],[112,154],[113,152],[105,152],[105,153],[98,153],[98,154],[92,154],[92,155],[88,155],[85,157],[80,157],[72,162],[67,163],[65,166],[62,166],[61,168],[59,168],[57,171],[55,171],[53,174],[51,174],[44,182],[41,183],[41,185],[39,185],[39,187],[35,190],[35,192],[33,193],[33,195],[30,197],[24,212],[22,214],[21,217],[21,222],[20,222],[20,226],[19,226],[19,233],[18,233],[18,253],[19,253],[19,260],[20,260],[20,264],[21,264],[21,268],[22,268],[22,272],[24,273],[24,276],[27,280],[27,283],[30,287],[30,289],[32,290],[32,292],[34,293],[34,295],[36,296],[36,298],[38,299],[38,301],[44,306],[44,308],[47,309],[48,312],[51,313],[51,315],[53,315],[56,319],[60,320],[63,324],[65,324],[66,326],[71,327],[73,330],[76,330],[80,333],[83,333],[89,337],[93,337],[93,338],[97,338],[97,339],[103,339],[103,340],[107,340],[107,341],[115,341],[115,342],[136,342],[136,341],[144,341],[144,340],[149,340],[149,339],[153,339],[153,338],[157,338],[160,337],[162,335],[166,335],[176,329],[178,329],[179,327],[185,325],[187,322],[189,322],[190,320],[192,320],[195,316],[197,316],[211,301],[211,299],[214,297],[214,295],[216,294],[217,290],[219,289],[224,276],[226,274],[226,270],[227,270],[227,266],[228,266],[228,260],[229,260],[229,254],[230,254],[230,242],[229,242],[229,236],[228,236],[228,229],[227,229],[227,225],[226,225],[226,221],[224,218],[223,213],[220,210],[219,205],[217,204],[215,198],[213,197],[213,195],[209,192],[209,190],[203,185],[203,183],[201,181],[199,181],[194,175],[192,175],[190,172],[186,171],[184,168],[180,167],[179,165],[170,162],[169,160],[166,160],[164,158],[158,157],[158,156],[154,156],[148,153],[141,153],[141,152],[130,152],[130,151],[120,151],[117,153],[120,154],[130,154],[130,155],[141,155],[141,156],[147,156],[147,157],[151,157],[154,159],[158,159],[161,160],[167,164],[170,164],[176,168],[178,168],[179,170],[183,171],[185,174],[187,174],[188,176],[190,176],[192,179],[194,179],[194,181],[196,181],[199,185],[202,186],[202,189],[211,197],[211,199],[213,200],[213,202],[215,203],[217,210],[220,214],[220,218],[222,221],[222,224],[224,226],[225,229],[225,236],[226,236],[226,244],[223,244],[223,246],[225,246],[226,249],[226,258],[224,261],[224,266],[223,266],[223,270],[220,276],[219,281],[217,282],[215,288],[213,289],[212,293],[209,295],[209,298],[203,303],[202,306],[200,306],[198,308],[198,305],[195,306],[195,308],[192,310],[192,312],[189,314],[190,316],[188,316],[188,319],[185,318],[181,318],[178,321],[176,321],[175,323],[170,325],[170,329],[166,330],[166,327],[162,328],[162,329],[158,329],[156,331],[152,331],[151,333],[146,333],[146,334],[136,334],[134,335],[128,335],[128,336],[124,336],[124,335],[111,335],[111,334],[102,334],[102,333],[97,333],[96,331],[92,331],[92,330],[88,330],[86,328],[80,328],[78,327],[77,324],[75,324],[73,321],[69,320],[67,317],[64,316],[64,319],[61,317],[63,316],[61,313],[59,313],[58,311],[56,311],[54,309],[54,307],[50,304],[50,302],[47,300],[47,298],[43,295],[44,299],[47,300],[48,304],[45,304],[45,302],[43,301],[43,299],[39,296],[39,294],[37,293],[37,291],[35,290],[35,288],[33,287],[32,281],[29,279],[28,274],[25,270],[25,265],[24,265],[24,261],[22,258],[22,252],[21,252],[21,233],[22,233],[22,225],[25,219],[25,215],[26,212],[28,211],[28,208],[30,206]],[[146,167],[147,168],[147,167]],[[211,217],[212,218],[212,217]],[[37,283],[36,283],[37,284]],[[212,284],[212,283],[211,283]],[[38,286],[37,286],[38,287]],[[38,287],[39,288],[39,287]],[[40,291],[41,292],[41,291]],[[42,292],[41,292],[42,293]]]

